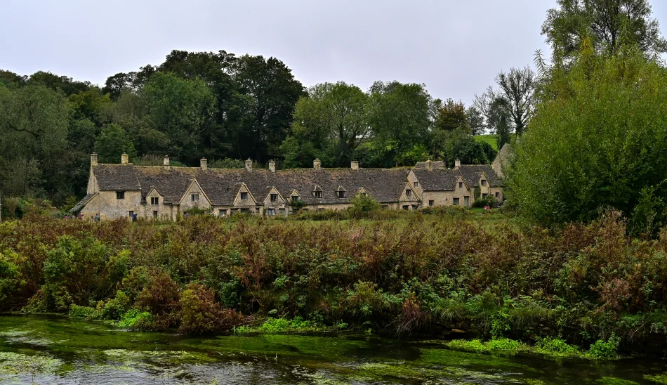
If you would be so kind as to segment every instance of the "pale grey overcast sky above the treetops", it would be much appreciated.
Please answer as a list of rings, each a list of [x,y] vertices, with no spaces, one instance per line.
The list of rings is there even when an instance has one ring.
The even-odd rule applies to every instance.
[[[540,27],[555,0],[4,0],[0,69],[103,85],[162,63],[172,49],[275,56],[305,86],[343,80],[424,83],[461,99],[498,70],[548,51]],[[664,4],[663,4],[664,3]],[[661,29],[667,1],[652,1]]]

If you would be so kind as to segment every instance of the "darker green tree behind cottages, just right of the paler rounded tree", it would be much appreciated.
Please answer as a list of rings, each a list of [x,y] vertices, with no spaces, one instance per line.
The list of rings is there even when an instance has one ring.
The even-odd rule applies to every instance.
[[[411,162],[404,153],[425,149],[430,140],[432,98],[423,84],[376,81],[369,90],[372,138],[364,146],[364,164],[392,167]]]

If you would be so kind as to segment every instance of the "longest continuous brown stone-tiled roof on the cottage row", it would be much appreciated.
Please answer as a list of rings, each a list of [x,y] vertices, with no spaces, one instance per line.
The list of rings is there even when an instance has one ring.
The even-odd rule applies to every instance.
[[[288,169],[275,173],[266,169],[208,169],[194,167],[133,166],[132,164],[99,164],[93,166],[100,190],[140,190],[145,197],[151,188],[164,197],[165,203],[178,203],[194,180],[197,180],[211,204],[230,206],[245,183],[258,202],[275,187],[286,200],[293,190],[307,204],[347,203],[361,188],[378,202],[397,202],[407,180],[407,169]],[[312,194],[315,186],[322,198]],[[347,197],[339,198],[342,187]]]

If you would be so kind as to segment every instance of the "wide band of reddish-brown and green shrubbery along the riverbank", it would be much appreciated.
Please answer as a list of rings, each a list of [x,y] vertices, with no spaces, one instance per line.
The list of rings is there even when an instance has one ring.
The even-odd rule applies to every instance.
[[[4,222],[0,305],[183,332],[231,329],[256,315],[587,344],[665,332],[667,229],[659,240],[632,240],[614,212],[559,233],[480,226],[463,214],[393,215]]]

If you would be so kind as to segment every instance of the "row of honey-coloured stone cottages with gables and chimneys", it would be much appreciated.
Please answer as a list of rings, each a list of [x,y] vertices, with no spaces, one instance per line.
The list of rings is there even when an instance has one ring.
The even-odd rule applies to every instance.
[[[352,161],[349,169],[326,169],[315,159],[312,169],[253,168],[209,169],[172,167],[169,157],[162,166],[135,166],[126,154],[121,164],[98,164],[91,155],[88,191],[72,212],[84,218],[133,217],[176,219],[192,207],[218,216],[252,213],[284,216],[293,202],[304,210],[345,209],[357,194],[373,197],[386,209],[417,210],[421,207],[459,205],[469,207],[475,188],[481,197],[503,201],[501,150],[494,164],[418,162],[415,167],[364,169]]]

